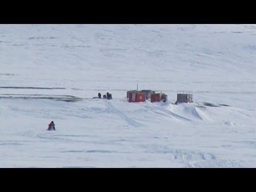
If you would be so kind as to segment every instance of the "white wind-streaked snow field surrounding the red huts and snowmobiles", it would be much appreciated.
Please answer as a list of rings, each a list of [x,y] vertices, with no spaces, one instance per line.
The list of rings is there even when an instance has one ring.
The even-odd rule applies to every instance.
[[[256,167],[255,64],[256,25],[0,25],[0,167]]]

